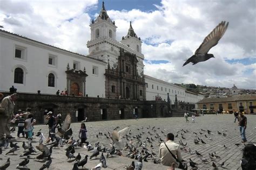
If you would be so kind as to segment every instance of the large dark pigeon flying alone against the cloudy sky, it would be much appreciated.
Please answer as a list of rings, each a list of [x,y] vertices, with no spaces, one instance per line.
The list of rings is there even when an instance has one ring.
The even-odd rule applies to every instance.
[[[194,53],[191,58],[187,59],[187,61],[183,64],[183,66],[192,62],[195,65],[198,62],[206,61],[210,58],[214,58],[213,54],[208,54],[208,51],[218,44],[218,41],[223,37],[225,31],[227,30],[228,22],[226,24],[225,21],[222,21],[219,25],[213,29],[213,31],[205,37],[203,43],[199,46],[197,51]]]

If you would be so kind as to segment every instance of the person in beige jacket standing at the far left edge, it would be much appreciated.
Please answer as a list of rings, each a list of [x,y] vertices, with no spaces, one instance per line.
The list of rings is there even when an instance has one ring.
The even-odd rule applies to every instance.
[[[11,118],[14,117],[14,105],[17,100],[18,95],[16,93],[11,94],[10,96],[6,96],[3,98],[1,107],[4,109],[4,113],[0,116],[0,139],[5,138],[14,139],[15,137],[11,136],[10,125]]]

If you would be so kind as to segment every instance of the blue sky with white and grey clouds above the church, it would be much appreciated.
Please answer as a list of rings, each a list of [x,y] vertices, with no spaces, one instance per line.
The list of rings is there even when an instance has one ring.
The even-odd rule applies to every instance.
[[[46,44],[87,54],[96,0],[0,0],[0,25]],[[144,73],[171,83],[256,89],[256,5],[234,0],[106,0],[117,40],[129,22],[142,38]],[[182,67],[221,20],[228,29],[209,53],[215,58]]]

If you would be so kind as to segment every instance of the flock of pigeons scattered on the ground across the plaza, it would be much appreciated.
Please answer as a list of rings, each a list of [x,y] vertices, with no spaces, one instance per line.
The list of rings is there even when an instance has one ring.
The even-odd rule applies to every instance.
[[[132,130],[129,126],[127,126],[126,128],[117,131],[119,129],[119,126],[117,126],[113,129],[112,133],[107,132],[103,134],[102,132],[98,132],[96,134],[96,139],[106,139],[107,141],[111,139],[110,147],[107,147],[109,146],[109,143],[107,143],[106,145],[105,143],[100,144],[100,142],[97,142],[94,145],[84,145],[80,143],[79,139],[75,140],[72,137],[72,129],[70,128],[70,124],[71,116],[68,114],[62,127],[58,128],[57,133],[51,133],[50,136],[46,138],[41,130],[39,130],[36,134],[39,140],[38,143],[36,143],[37,146],[35,147],[33,147],[31,140],[28,140],[27,142],[23,141],[22,146],[18,146],[18,143],[13,143],[12,141],[9,142],[9,140],[6,139],[2,143],[0,143],[0,154],[3,154],[4,151],[5,155],[11,156],[12,154],[15,154],[18,150],[21,150],[23,148],[24,152],[19,155],[19,157],[23,160],[17,165],[17,168],[22,169],[29,169],[28,167],[26,167],[26,165],[29,164],[30,159],[34,159],[35,161],[42,160],[44,164],[40,169],[49,168],[52,164],[51,155],[54,154],[53,150],[58,147],[65,148],[66,158],[69,159],[68,162],[74,161],[72,168],[73,170],[77,170],[79,169],[79,167],[84,168],[89,159],[98,159],[97,157],[99,157],[99,164],[92,169],[100,169],[102,167],[106,168],[106,158],[111,159],[113,155],[131,158],[131,165],[125,166],[125,168],[129,170],[142,169],[143,161],[151,161],[154,164],[160,164],[158,153],[154,153],[153,150],[155,150],[156,148],[158,149],[160,143],[164,141],[167,134],[165,129],[161,130],[160,128],[156,128],[155,126],[148,126],[144,128],[142,126],[140,128]],[[211,165],[215,169],[217,169],[218,166],[225,168],[225,161],[221,162],[221,164],[217,164],[217,162],[219,162],[220,160],[220,156],[217,153],[208,153],[208,158],[206,158],[205,155],[198,152],[197,150],[192,151],[189,147],[189,145],[191,144],[187,144],[187,142],[185,143],[188,133],[193,134],[194,145],[205,145],[206,141],[212,140],[213,137],[226,137],[226,130],[213,133],[210,130],[204,129],[201,129],[197,132],[181,129],[177,131],[175,136],[176,141],[177,139],[179,141],[181,151],[190,153],[191,155],[196,154],[197,157],[199,157],[200,160],[205,164],[212,162]],[[239,146],[240,143],[235,145]],[[87,151],[91,152],[91,155],[85,155],[84,159],[82,159],[80,153],[75,154],[75,149],[77,147],[86,148]],[[228,149],[226,145],[224,145],[223,147],[224,149]],[[41,153],[38,154],[37,150],[41,151]],[[189,162],[189,165],[193,169],[198,169],[198,162],[194,162],[192,159],[189,159],[185,162]],[[9,166],[10,158],[8,158],[3,165],[0,165],[0,170],[6,169]]]

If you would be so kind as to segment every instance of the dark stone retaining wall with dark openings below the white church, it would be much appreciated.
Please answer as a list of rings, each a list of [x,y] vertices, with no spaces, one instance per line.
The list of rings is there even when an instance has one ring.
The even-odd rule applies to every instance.
[[[5,96],[9,93],[3,93]],[[134,114],[139,118],[170,117],[165,101],[135,101],[99,97],[57,96],[19,93],[15,102],[18,109],[31,108],[37,123],[46,123],[45,115],[52,111],[55,116],[71,113],[72,122],[131,119]]]

